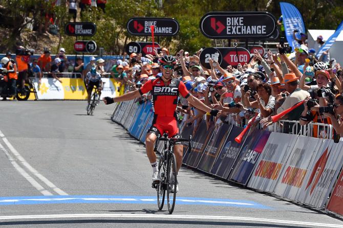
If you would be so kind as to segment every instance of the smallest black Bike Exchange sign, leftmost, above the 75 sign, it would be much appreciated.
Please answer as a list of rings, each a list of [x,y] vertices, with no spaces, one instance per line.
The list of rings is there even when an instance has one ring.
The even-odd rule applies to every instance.
[[[68,36],[94,36],[96,33],[96,25],[93,22],[67,23],[65,33]]]

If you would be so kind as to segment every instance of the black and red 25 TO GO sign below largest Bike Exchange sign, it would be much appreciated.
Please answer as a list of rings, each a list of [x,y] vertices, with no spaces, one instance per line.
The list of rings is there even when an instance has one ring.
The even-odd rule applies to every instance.
[[[244,65],[250,61],[250,53],[245,48],[205,48],[200,53],[200,63],[207,69],[211,69],[209,59],[219,53],[218,63],[226,69],[228,65],[237,66],[238,63]]]

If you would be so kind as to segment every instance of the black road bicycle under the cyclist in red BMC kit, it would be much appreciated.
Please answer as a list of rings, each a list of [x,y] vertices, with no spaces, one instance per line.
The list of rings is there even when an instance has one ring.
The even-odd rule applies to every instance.
[[[176,142],[188,142],[188,150],[192,148],[192,136],[189,135],[189,139],[182,139],[177,135],[176,138],[168,138],[168,134],[164,133],[163,138],[159,138],[155,144],[155,151],[157,151],[157,145],[159,141],[164,141],[164,150],[160,152],[160,158],[158,162],[158,171],[161,176],[159,184],[153,184],[153,188],[157,191],[157,205],[158,209],[162,210],[165,199],[165,192],[167,192],[167,204],[169,214],[173,213],[176,199],[177,189],[177,169],[176,158],[174,154],[174,146]],[[174,176],[174,180],[171,176]],[[174,189],[172,192],[171,190]]]

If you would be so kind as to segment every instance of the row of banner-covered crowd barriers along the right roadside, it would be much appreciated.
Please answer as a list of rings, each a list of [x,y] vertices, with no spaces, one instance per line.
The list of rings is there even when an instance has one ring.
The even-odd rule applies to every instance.
[[[142,143],[153,120],[149,101],[118,103],[112,120]],[[188,138],[193,126],[181,123]],[[242,127],[205,121],[192,135],[193,147],[184,144],[183,164],[234,181],[251,189],[272,193],[312,208],[343,215],[343,141],[251,128],[238,144]],[[307,134],[307,131],[304,133]],[[163,144],[157,147],[161,151]]]

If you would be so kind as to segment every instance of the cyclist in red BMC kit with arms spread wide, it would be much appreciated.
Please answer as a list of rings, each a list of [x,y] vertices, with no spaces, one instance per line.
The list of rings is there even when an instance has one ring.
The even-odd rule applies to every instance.
[[[180,136],[176,107],[178,104],[178,96],[181,94],[182,97],[187,101],[206,112],[211,113],[213,116],[217,116],[218,110],[211,109],[201,102],[196,97],[192,96],[185,84],[179,79],[172,78],[174,73],[174,65],[176,59],[173,56],[164,55],[159,59],[160,70],[162,77],[148,80],[138,90],[128,92],[119,97],[111,98],[104,97],[103,101],[105,104],[111,104],[113,102],[127,101],[135,98],[139,98],[145,93],[151,92],[152,104],[154,110],[153,125],[148,130],[145,138],[146,154],[149,158],[151,166],[153,167],[153,184],[159,184],[161,181],[160,174],[158,172],[158,164],[156,162],[156,154],[154,152],[154,143],[158,136],[161,136],[164,132],[168,132],[169,138],[178,138]],[[182,165],[182,153],[183,145],[179,142],[174,146],[174,154],[176,156],[177,171]],[[173,177],[172,177],[173,178]],[[174,192],[174,189],[172,190]],[[178,191],[178,187],[177,190]]]

